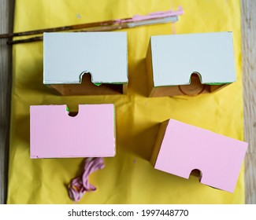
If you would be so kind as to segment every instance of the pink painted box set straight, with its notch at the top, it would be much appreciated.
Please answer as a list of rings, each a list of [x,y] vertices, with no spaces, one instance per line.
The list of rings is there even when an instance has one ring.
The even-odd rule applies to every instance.
[[[66,105],[30,107],[31,158],[115,156],[114,106],[79,105],[69,116]]]

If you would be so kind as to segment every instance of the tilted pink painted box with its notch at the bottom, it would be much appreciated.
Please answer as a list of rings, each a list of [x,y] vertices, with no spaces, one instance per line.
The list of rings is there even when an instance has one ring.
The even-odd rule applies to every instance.
[[[169,119],[161,124],[151,163],[155,169],[189,178],[201,173],[200,182],[234,192],[247,143]]]

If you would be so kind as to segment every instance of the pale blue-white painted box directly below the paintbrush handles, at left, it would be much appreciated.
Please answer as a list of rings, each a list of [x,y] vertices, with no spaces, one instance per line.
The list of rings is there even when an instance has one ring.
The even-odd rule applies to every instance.
[[[62,95],[125,94],[126,32],[43,34],[43,83]]]

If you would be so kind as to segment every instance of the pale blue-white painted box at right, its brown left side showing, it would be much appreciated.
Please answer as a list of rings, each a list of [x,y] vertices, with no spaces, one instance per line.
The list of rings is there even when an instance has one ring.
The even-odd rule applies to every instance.
[[[151,36],[149,97],[211,93],[236,81],[232,32]]]

